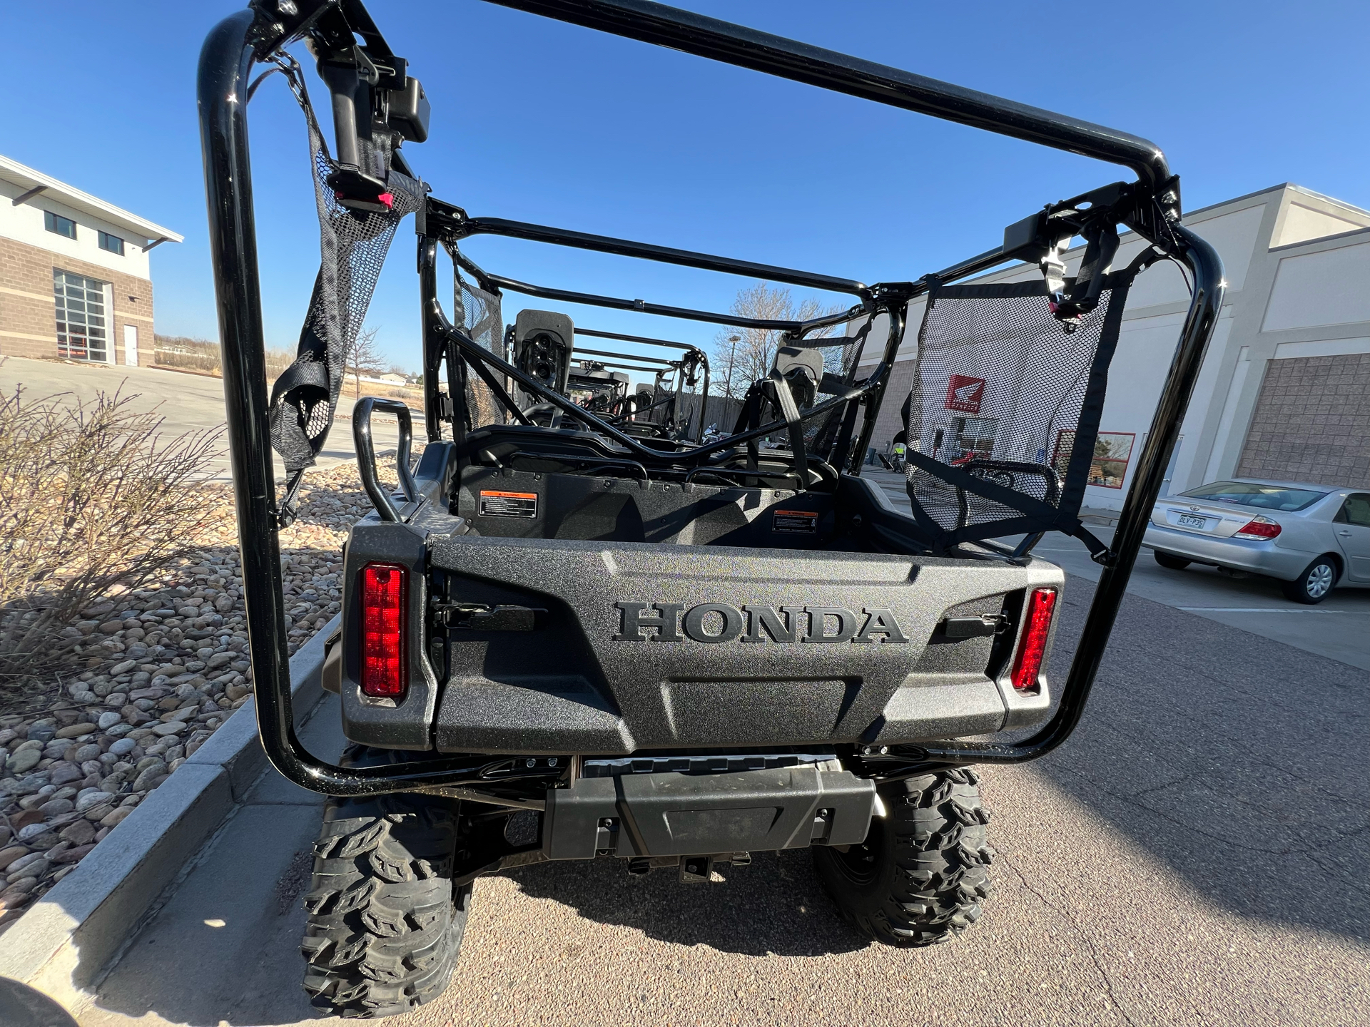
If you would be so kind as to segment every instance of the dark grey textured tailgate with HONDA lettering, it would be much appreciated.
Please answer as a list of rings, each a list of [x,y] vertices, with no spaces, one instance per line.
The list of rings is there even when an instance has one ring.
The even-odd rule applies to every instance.
[[[462,535],[430,540],[430,553],[452,600],[516,596],[548,611],[532,633],[449,633],[434,733],[444,752],[995,731],[1010,702],[985,674],[989,639],[967,639],[971,665],[919,670],[927,642],[949,609],[996,609],[1011,592],[1063,582],[1040,561],[721,545]]]

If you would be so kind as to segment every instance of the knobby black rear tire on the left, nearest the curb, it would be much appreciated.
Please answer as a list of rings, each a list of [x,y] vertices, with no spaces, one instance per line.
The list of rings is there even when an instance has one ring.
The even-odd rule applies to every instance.
[[[352,746],[345,765],[396,756]],[[334,1016],[404,1013],[452,978],[471,887],[452,889],[458,804],[432,796],[330,798],[314,846],[300,952],[304,990]]]

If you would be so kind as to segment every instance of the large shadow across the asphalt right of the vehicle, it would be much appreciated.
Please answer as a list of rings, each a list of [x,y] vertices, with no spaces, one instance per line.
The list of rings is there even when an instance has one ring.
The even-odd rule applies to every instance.
[[[1066,594],[1058,683],[1093,586]],[[1080,728],[1033,772],[1215,905],[1365,939],[1367,698],[1362,670],[1128,596]]]

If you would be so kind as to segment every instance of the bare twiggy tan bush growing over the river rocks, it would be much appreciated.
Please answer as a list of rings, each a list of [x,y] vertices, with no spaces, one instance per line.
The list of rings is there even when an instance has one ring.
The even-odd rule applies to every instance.
[[[0,694],[51,672],[84,607],[186,555],[212,518],[218,431],[163,441],[134,398],[0,396]]]

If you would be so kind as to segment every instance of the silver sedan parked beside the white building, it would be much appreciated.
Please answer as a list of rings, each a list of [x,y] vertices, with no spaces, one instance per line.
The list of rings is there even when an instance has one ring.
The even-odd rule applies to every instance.
[[[1370,587],[1370,489],[1237,478],[1166,496],[1143,545],[1156,563],[1277,578],[1295,603]]]

